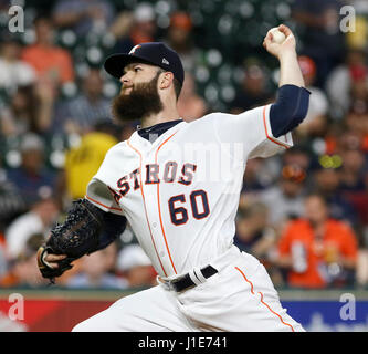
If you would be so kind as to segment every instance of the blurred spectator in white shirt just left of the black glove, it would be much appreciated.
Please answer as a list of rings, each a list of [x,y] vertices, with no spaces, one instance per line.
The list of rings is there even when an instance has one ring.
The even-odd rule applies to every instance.
[[[25,249],[28,240],[34,233],[43,235],[43,240],[56,221],[59,206],[52,198],[40,198],[30,211],[18,217],[6,230],[7,256],[17,259]]]

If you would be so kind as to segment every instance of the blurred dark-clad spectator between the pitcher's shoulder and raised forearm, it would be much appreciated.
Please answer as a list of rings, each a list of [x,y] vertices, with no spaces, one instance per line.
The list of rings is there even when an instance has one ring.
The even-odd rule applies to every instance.
[[[269,103],[273,94],[269,92],[266,85],[266,74],[259,63],[251,61],[245,64],[244,79],[241,90],[236,91],[236,96],[231,103],[231,113],[254,108],[255,106]]]

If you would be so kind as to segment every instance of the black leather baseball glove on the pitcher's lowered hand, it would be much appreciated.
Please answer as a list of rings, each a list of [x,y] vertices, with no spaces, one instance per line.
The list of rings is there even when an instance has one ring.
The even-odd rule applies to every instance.
[[[71,263],[74,260],[99,249],[104,214],[86,199],[73,202],[64,223],[56,225],[51,230],[46,243],[38,251],[38,266],[43,278],[53,282],[55,277],[60,277],[73,267]],[[54,269],[45,261],[49,253],[66,254],[67,257],[57,261],[59,268]]]

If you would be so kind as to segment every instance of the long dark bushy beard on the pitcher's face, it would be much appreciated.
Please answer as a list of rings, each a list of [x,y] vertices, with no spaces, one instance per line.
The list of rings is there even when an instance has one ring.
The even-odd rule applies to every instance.
[[[119,94],[113,100],[113,117],[120,123],[141,121],[144,117],[162,111],[162,103],[157,91],[157,74],[150,82],[136,84],[130,94]]]

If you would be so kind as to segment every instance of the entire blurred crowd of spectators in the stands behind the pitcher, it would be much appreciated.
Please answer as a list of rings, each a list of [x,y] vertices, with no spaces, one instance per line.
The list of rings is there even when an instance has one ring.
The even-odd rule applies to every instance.
[[[0,12],[12,3],[1,1]],[[340,28],[345,4],[356,10],[355,31]],[[264,22],[249,31],[255,11]],[[234,241],[276,287],[368,285],[366,0],[57,0],[44,9],[25,1],[24,13],[24,33],[4,28],[0,39],[0,288],[48,284],[36,249],[84,197],[105,153],[136,128],[112,122],[119,83],[102,70],[106,55],[164,41],[183,61],[183,119],[238,114],[275,100],[277,62],[260,39],[281,22],[297,35],[309,111],[293,148],[248,162]],[[231,31],[241,38],[231,42]],[[155,283],[129,228],[57,281],[91,289]]]

